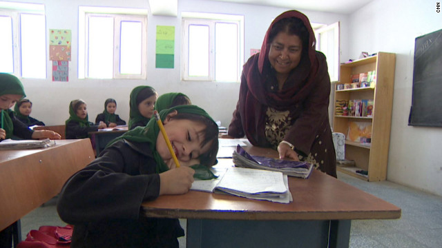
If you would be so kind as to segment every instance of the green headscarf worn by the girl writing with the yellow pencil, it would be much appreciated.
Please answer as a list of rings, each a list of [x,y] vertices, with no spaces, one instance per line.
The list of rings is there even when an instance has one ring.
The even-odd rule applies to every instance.
[[[171,107],[170,109],[163,110],[162,112],[160,112],[160,118],[162,119],[162,121],[164,121],[167,114],[169,114],[173,110],[177,110],[178,113],[197,114],[209,118],[209,120],[213,121],[213,119],[211,118],[211,116],[209,116],[209,114],[207,114],[207,112],[196,105],[179,105]],[[215,121],[213,121],[213,123],[216,125]],[[160,127],[158,126],[157,121],[155,120],[155,118],[151,118],[151,121],[149,121],[145,127],[135,127],[133,130],[130,130],[124,133],[122,136],[115,138],[113,141],[108,143],[107,146],[115,143],[120,139],[126,139],[128,141],[135,141],[139,143],[148,143],[151,147],[155,163],[157,164],[156,172],[166,172],[169,170],[169,167],[166,165],[166,163],[164,163],[160,154],[157,152],[157,149],[155,149],[159,132]],[[204,165],[193,165],[191,166],[191,168],[195,169],[195,178],[215,178],[209,168]]]

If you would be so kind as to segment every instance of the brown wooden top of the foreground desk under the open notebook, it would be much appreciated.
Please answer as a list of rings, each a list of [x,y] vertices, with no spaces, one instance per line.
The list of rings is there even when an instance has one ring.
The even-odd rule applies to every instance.
[[[276,151],[270,149],[245,149],[253,155],[277,156]],[[190,191],[184,195],[160,196],[143,203],[143,207],[147,216],[173,218],[354,220],[401,217],[401,209],[395,205],[318,170],[308,179],[289,176],[289,189],[294,198],[289,204]]]

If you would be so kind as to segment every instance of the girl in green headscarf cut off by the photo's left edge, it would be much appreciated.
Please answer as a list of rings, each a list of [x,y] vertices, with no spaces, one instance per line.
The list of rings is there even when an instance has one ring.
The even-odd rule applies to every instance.
[[[10,107],[25,97],[25,91],[20,80],[16,76],[0,73],[0,140],[6,138],[50,138],[60,139],[60,134],[50,130],[30,130],[27,125],[21,123]]]

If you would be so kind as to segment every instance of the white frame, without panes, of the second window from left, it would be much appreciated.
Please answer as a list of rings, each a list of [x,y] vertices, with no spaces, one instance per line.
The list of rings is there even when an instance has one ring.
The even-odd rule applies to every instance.
[[[93,79],[88,77],[88,18],[113,17],[114,19],[114,48],[113,48],[113,78],[112,79],[146,79],[147,77],[147,16],[145,9],[108,8],[108,7],[79,7],[78,34],[78,79]],[[139,21],[142,23],[142,68],[141,74],[119,73],[119,44],[122,21]],[[111,79],[111,80],[112,80]]]

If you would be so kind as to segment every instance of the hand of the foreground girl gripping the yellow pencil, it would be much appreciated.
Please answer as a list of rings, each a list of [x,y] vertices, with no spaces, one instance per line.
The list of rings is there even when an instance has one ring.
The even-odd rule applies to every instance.
[[[184,194],[189,192],[195,171],[181,166],[160,174],[160,196],[164,194]]]

